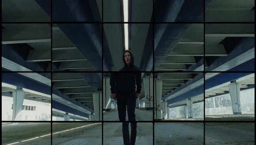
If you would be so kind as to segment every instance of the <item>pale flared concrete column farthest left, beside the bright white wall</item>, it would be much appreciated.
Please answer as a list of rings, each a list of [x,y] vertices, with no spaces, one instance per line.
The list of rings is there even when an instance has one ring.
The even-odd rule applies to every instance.
[[[22,88],[17,88],[15,91],[12,92],[13,98],[13,110],[12,110],[12,121],[20,121],[22,120],[22,104],[25,98],[25,92]]]

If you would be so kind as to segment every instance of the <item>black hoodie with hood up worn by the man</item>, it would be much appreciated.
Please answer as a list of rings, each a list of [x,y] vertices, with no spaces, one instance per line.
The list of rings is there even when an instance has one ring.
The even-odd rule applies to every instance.
[[[125,52],[129,52],[131,55],[131,62],[129,66],[124,59]],[[124,67],[119,71],[140,71],[140,68],[135,66],[132,52],[125,50],[123,54]],[[135,86],[136,82],[136,86]],[[111,93],[132,93],[136,89],[136,93],[141,91],[141,73],[112,73],[110,78]]]

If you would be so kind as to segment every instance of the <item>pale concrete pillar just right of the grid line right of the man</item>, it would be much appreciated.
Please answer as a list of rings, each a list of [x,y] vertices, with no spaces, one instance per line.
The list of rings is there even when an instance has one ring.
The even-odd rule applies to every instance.
[[[162,84],[163,80],[155,79],[155,119],[162,119]]]

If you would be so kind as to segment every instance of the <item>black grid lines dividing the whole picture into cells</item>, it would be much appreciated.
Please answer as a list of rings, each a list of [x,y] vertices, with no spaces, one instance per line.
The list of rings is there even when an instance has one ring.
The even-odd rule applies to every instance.
[[[255,24],[254,22],[206,22],[205,21],[205,17],[206,17],[206,5],[205,5],[205,1],[203,1],[204,3],[204,9],[203,9],[203,22],[194,22],[194,21],[191,21],[191,22],[156,22],[155,21],[155,3],[154,3],[154,0],[152,0],[152,3],[153,3],[153,21],[150,21],[150,22],[143,22],[143,21],[140,21],[140,22],[109,22],[109,21],[106,21],[104,22],[104,19],[103,19],[103,16],[104,16],[104,8],[103,8],[103,1],[102,0],[102,8],[101,8],[101,21],[53,21],[53,0],[50,0],[51,1],[51,13],[50,13],[50,22],[3,22],[2,21],[2,17],[1,17],[1,24],[50,24],[50,46],[51,46],[51,63],[50,63],[50,68],[51,68],[51,71],[1,71],[1,74],[2,73],[50,73],[51,74],[51,119],[50,121],[3,121],[3,118],[2,118],[2,113],[1,113],[1,123],[5,123],[5,122],[47,122],[47,123],[50,123],[51,124],[51,144],[52,144],[52,125],[53,123],[72,123],[72,122],[90,122],[90,123],[93,123],[93,122],[98,122],[98,123],[101,123],[101,139],[102,139],[102,145],[104,144],[104,140],[103,140],[103,125],[104,123],[110,123],[110,122],[121,122],[121,121],[104,121],[103,119],[103,77],[104,77],[104,74],[105,73],[117,73],[118,71],[104,71],[103,68],[103,63],[104,63],[104,29],[103,29],[103,25],[104,24],[152,24],[153,28],[152,28],[152,35],[153,35],[153,44],[152,44],[152,49],[153,49],[153,68],[152,68],[152,71],[140,71],[141,73],[150,73],[150,74],[153,74],[153,112],[152,112],[152,116],[153,116],[153,120],[152,121],[125,121],[125,122],[139,122],[139,123],[152,123],[153,124],[153,145],[155,144],[155,123],[163,123],[163,122],[168,122],[168,123],[173,123],[173,122],[200,122],[200,123],[203,123],[203,130],[204,130],[204,136],[203,136],[203,142],[205,144],[205,126],[206,126],[206,123],[209,123],[209,122],[218,122],[218,123],[226,123],[226,122],[237,122],[237,123],[240,123],[240,122],[254,122],[254,121],[206,121],[206,115],[205,115],[205,98],[206,98],[206,93],[205,93],[205,89],[206,89],[206,86],[205,86],[205,75],[206,73],[255,73],[255,71],[206,71],[205,70],[205,66],[206,66],[206,48],[205,48],[205,25],[206,24]],[[2,2],[2,1],[1,1]],[[2,10],[2,7],[1,7],[1,10]],[[53,72],[53,24],[100,24],[101,26],[101,71],[54,71]],[[157,113],[157,110],[155,109],[156,105],[157,105],[157,101],[155,100],[155,94],[156,94],[156,83],[155,83],[155,74],[156,73],[184,73],[184,71],[156,71],[155,70],[155,24],[203,24],[203,59],[204,59],[204,70],[203,71],[185,71],[185,73],[203,73],[204,75],[204,83],[203,83],[203,91],[204,91],[204,94],[203,94],[203,97],[204,97],[204,102],[203,102],[203,111],[204,111],[204,119],[202,121],[172,121],[172,120],[169,120],[169,121],[158,121],[158,120],[155,120],[155,115],[154,113]],[[148,30],[150,31],[150,30]],[[1,30],[1,34],[2,34],[2,30]],[[2,47],[2,46],[1,46]],[[1,60],[2,61],[2,60]],[[2,63],[1,63],[2,64]],[[138,73],[138,71],[129,71],[129,73]],[[102,94],[102,97],[101,97],[101,120],[100,121],[53,121],[52,120],[52,103],[53,103],[53,99],[52,99],[52,90],[53,90],[53,79],[52,79],[52,76],[53,76],[53,73],[101,73],[101,77],[102,77],[102,91],[101,91],[101,94]],[[127,72],[122,72],[122,73],[127,73]],[[1,78],[2,80],[2,78]],[[106,85],[106,84],[105,84]],[[100,101],[100,100],[99,100]],[[2,104],[1,104],[2,105]],[[100,105],[100,103],[99,103]],[[99,106],[100,107],[100,106]],[[168,110],[169,111],[169,110]],[[100,113],[99,113],[100,114]]]

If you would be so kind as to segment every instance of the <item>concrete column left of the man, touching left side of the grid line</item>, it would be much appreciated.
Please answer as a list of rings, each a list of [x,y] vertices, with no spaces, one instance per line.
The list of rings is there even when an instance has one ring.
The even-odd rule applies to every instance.
[[[93,93],[94,120],[102,119],[102,93],[101,91]]]

